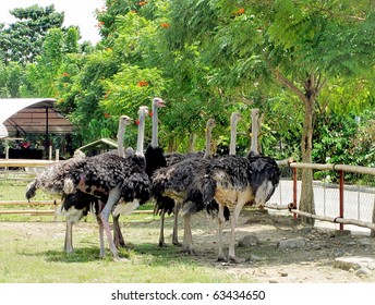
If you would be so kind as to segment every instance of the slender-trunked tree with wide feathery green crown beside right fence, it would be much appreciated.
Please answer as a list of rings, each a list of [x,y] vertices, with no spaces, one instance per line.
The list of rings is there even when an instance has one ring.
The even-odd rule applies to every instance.
[[[207,10],[219,22],[209,36],[195,36],[206,38],[199,44],[215,71],[211,82],[226,84],[226,94],[231,96],[251,91],[252,86],[262,90],[269,81],[289,89],[304,109],[301,157],[311,163],[313,121],[326,84],[334,85],[340,76],[348,81],[373,77],[372,3],[359,1],[354,8],[350,1],[209,2]],[[191,19],[186,23],[204,20],[198,13]],[[195,30],[205,28],[196,24]],[[314,213],[312,181],[312,171],[303,170],[300,208]]]

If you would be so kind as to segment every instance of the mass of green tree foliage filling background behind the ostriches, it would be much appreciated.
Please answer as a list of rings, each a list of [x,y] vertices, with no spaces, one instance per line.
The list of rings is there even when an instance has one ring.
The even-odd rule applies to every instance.
[[[13,28],[20,38],[21,24],[0,27],[0,95],[57,98],[77,125],[76,143],[114,137],[119,115],[135,118],[138,106],[160,96],[168,105],[159,113],[164,147],[185,151],[196,135],[202,149],[208,118],[218,124],[216,144],[227,145],[230,113],[240,111],[242,154],[250,143],[251,109],[259,108],[262,151],[299,159],[301,97],[317,94],[314,160],[373,164],[370,1],[107,0],[96,12],[102,39],[95,48],[78,44],[77,28],[53,23],[59,16],[53,7],[26,12],[20,20],[29,27],[26,34],[49,17],[58,28],[43,28],[34,62],[26,64],[32,60],[19,57],[15,63],[7,56],[19,52],[7,33]],[[309,88],[312,76],[322,90]],[[361,117],[360,125],[354,117]],[[135,129],[129,138],[133,143]]]

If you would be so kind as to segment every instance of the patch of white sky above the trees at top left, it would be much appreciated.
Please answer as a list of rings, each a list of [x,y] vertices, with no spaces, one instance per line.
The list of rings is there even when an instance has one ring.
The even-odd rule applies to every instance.
[[[55,4],[57,12],[64,12],[64,26],[80,26],[82,40],[89,40],[96,44],[99,39],[99,32],[95,25],[95,9],[101,9],[105,0],[0,0],[0,23],[13,23],[15,19],[9,13],[16,8],[28,8],[34,4],[47,7]]]

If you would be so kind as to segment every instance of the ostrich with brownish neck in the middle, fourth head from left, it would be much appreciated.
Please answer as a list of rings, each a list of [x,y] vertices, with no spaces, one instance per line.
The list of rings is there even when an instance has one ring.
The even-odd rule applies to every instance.
[[[206,149],[205,157],[210,157],[211,151],[211,132],[216,126],[215,120],[209,119],[206,124]],[[194,171],[198,168],[202,158],[188,158],[183,161],[177,162],[166,168],[160,168],[155,171],[152,182],[153,182],[153,195],[156,198],[157,205],[165,203],[165,198],[169,198],[174,205],[174,230],[177,232],[177,212],[181,207],[182,200],[185,196],[185,190],[188,190],[190,183],[192,182],[192,176]],[[185,164],[185,172],[183,175],[176,174],[174,168],[179,167],[180,163]],[[176,204],[174,204],[176,203]],[[164,210],[166,207],[164,207]],[[162,222],[161,222],[162,224]],[[162,225],[160,230],[159,245],[161,241],[164,242]],[[161,240],[162,239],[162,240]]]

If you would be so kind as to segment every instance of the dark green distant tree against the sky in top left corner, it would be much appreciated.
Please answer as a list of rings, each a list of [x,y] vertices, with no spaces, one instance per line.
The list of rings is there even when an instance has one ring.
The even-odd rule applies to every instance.
[[[55,11],[53,4],[46,8],[35,4],[10,13],[17,21],[9,27],[0,27],[0,58],[5,64],[34,62],[41,52],[48,29],[61,28],[64,19],[63,13]]]

